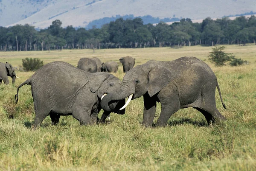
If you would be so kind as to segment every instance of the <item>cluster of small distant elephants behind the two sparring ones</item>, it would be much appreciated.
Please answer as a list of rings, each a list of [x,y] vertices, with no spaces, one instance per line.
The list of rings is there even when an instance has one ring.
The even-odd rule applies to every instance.
[[[135,59],[131,56],[125,56],[119,59],[123,66],[123,72],[126,73],[128,70],[134,67]],[[107,72],[107,73],[116,73],[118,70],[118,64],[116,62],[101,62],[99,58],[81,58],[79,59],[78,64],[76,65],[79,69],[84,70],[89,73],[96,72]]]

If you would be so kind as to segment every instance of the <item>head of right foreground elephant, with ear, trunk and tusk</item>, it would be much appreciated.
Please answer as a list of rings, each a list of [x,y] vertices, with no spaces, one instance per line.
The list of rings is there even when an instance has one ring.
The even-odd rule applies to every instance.
[[[166,68],[158,64],[138,65],[125,74],[119,93],[110,93],[102,99],[102,108],[108,111],[108,104],[111,101],[129,97],[124,106],[126,107],[131,99],[139,98],[146,93],[150,97],[157,94],[170,81],[171,73]]]

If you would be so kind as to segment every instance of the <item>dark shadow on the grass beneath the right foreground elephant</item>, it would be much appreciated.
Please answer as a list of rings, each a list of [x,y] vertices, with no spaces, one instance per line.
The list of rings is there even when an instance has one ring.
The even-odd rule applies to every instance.
[[[180,119],[175,119],[167,122],[168,126],[177,126],[177,125],[184,125],[184,124],[192,124],[195,126],[200,126],[200,127],[208,127],[209,125],[205,121],[193,121],[192,119],[189,118],[180,118]],[[156,123],[153,124],[153,127],[156,127]]]

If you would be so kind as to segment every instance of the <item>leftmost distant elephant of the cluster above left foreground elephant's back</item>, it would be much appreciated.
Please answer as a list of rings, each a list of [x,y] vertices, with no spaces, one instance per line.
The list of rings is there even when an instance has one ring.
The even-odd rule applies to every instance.
[[[77,68],[84,70],[88,73],[96,73],[98,69],[96,62],[90,58],[79,59]]]

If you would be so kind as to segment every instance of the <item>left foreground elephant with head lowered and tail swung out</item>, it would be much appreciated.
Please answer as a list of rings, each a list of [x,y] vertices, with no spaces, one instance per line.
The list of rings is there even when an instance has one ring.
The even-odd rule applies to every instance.
[[[88,73],[66,62],[51,62],[20,84],[15,104],[25,84],[31,85],[36,128],[48,115],[53,125],[61,115],[73,115],[82,125],[96,123],[102,95],[119,92],[121,81],[109,73]],[[113,101],[111,110],[105,111],[100,121],[104,122],[110,112],[124,114],[125,110],[119,110],[124,104],[125,100]]]

